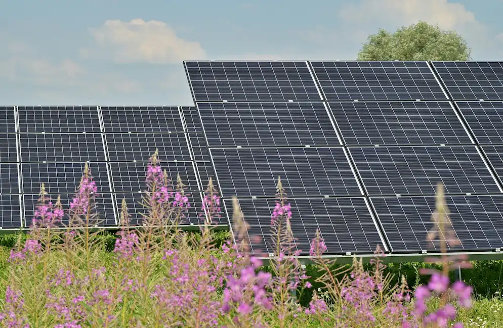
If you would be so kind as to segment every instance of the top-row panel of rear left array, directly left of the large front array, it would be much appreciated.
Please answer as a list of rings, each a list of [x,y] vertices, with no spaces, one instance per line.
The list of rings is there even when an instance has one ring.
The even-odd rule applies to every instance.
[[[177,106],[102,106],[105,132],[182,132]]]

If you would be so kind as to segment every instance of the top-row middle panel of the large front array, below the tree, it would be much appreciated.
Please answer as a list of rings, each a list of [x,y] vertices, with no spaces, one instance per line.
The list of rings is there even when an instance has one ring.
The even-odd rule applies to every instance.
[[[447,100],[427,62],[310,62],[326,100]]]

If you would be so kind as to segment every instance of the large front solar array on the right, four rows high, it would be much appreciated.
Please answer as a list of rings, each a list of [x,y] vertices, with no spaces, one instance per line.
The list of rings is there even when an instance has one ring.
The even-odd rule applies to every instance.
[[[436,185],[456,250],[503,247],[500,62],[185,62],[224,207],[237,196],[255,253],[275,183],[290,197],[306,253],[438,251]],[[313,83],[314,81],[314,83]],[[197,116],[193,113],[193,116]],[[199,131],[198,131],[199,132]],[[232,224],[232,219],[229,221]]]

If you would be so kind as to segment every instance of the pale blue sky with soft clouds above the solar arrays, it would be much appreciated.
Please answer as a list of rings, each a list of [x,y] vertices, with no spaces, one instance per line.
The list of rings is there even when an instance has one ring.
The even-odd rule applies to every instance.
[[[45,0],[0,11],[0,105],[191,105],[183,60],[353,60],[419,20],[503,60],[503,0]]]

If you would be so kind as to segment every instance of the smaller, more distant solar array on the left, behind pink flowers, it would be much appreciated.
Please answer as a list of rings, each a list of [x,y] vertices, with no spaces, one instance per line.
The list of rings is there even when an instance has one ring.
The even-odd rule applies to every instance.
[[[41,183],[68,208],[89,162],[100,196],[102,226],[119,224],[123,198],[131,223],[141,224],[146,166],[158,149],[161,166],[180,174],[198,224],[202,191],[213,175],[192,107],[0,107],[0,215],[2,228],[29,227]],[[63,223],[68,222],[66,216]]]

